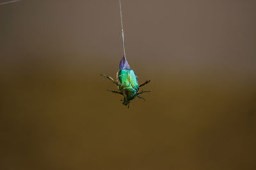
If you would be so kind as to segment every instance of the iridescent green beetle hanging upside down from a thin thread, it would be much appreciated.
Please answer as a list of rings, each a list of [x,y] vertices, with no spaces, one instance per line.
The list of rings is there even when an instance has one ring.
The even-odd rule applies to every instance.
[[[148,79],[147,81],[139,85],[137,76],[134,73],[134,71],[130,68],[125,55],[120,61],[120,69],[116,74],[116,81],[113,80],[113,78],[111,78],[110,76],[106,76],[104,74],[100,74],[100,76],[104,76],[109,80],[113,81],[113,83],[115,83],[115,85],[118,87],[118,91],[113,91],[113,90],[108,90],[108,91],[124,96],[124,99],[121,99],[121,101],[123,101],[123,104],[125,106],[128,105],[128,108],[129,108],[129,103],[132,99],[134,99],[135,97],[139,97],[144,101],[146,101],[143,97],[140,96],[140,94],[143,94],[145,92],[150,92],[150,91],[143,91],[143,90],[139,92],[140,87],[149,83],[150,80]]]

